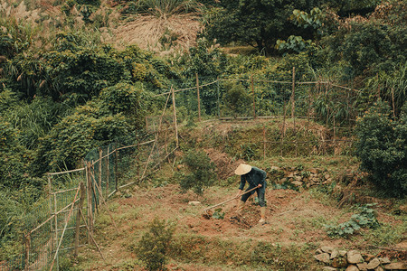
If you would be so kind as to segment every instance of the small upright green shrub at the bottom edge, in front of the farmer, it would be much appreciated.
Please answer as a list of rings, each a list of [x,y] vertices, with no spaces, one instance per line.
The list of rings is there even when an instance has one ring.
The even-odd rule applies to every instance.
[[[164,270],[175,224],[155,218],[148,228],[147,233],[138,242],[137,256],[148,270]]]

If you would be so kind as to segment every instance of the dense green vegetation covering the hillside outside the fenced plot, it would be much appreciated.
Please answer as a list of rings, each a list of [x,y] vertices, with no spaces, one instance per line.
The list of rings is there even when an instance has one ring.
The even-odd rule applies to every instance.
[[[10,13],[20,3],[0,6],[0,248],[18,234],[14,218],[42,196],[44,173],[75,168],[95,146],[134,143],[146,133],[147,114],[162,109],[165,98],[153,96],[194,85],[196,73],[207,80],[252,74],[287,79],[294,66],[361,89],[361,117],[379,99],[380,113],[366,112],[358,123],[356,153],[372,182],[405,195],[405,1],[167,1],[160,8],[157,2],[166,1],[70,0],[55,18],[43,13],[26,22]],[[101,29],[119,22],[109,14],[128,20],[153,10],[155,16],[200,14],[204,31],[193,47],[166,57],[104,42]],[[176,40],[171,33],[162,38]],[[229,56],[217,42],[257,51]],[[221,89],[225,104],[239,113],[241,86]],[[216,93],[202,98],[205,114],[215,116]],[[190,105],[185,98],[179,107],[188,111]]]

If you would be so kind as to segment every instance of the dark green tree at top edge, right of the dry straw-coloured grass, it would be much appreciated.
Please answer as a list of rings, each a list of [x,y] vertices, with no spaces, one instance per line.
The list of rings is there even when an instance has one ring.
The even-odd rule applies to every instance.
[[[309,11],[317,0],[241,0],[222,1],[206,16],[206,35],[225,44],[243,42],[270,54],[278,39],[286,40],[297,27],[288,18],[294,9]],[[302,30],[302,33],[307,31]]]

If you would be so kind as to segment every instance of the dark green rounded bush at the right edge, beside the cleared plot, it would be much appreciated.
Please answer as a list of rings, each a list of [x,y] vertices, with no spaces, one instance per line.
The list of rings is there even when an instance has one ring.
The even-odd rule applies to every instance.
[[[407,114],[393,119],[387,103],[379,100],[358,119],[356,155],[370,181],[384,192],[405,196],[407,192]]]

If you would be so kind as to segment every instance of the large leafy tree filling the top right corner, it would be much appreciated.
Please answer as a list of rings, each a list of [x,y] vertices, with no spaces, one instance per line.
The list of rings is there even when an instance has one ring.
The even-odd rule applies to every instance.
[[[320,58],[346,61],[354,76],[375,76],[381,70],[393,70],[407,61],[407,12],[405,1],[389,1],[377,6],[367,19],[338,21],[338,31],[321,41]]]

